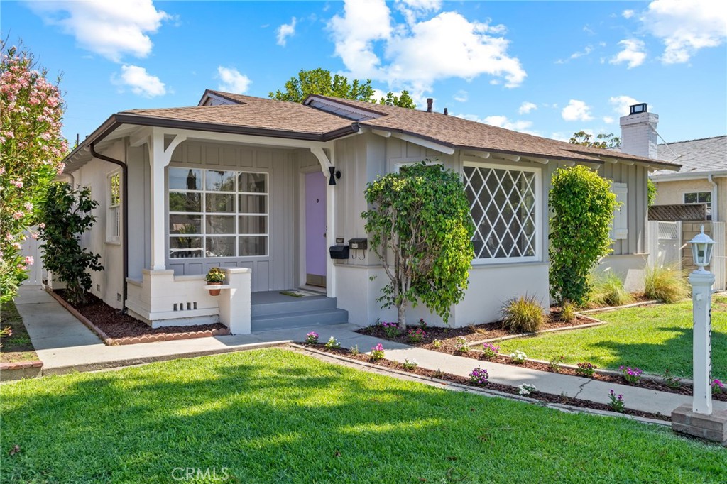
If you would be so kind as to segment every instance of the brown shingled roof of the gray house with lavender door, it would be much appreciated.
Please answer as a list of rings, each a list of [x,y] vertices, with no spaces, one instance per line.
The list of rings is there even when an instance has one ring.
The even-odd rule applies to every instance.
[[[568,142],[550,140],[490,126],[457,116],[446,116],[420,110],[379,105],[371,102],[343,100],[335,97],[310,96],[306,102],[285,102],[206,90],[202,100],[209,95],[227,101],[221,105],[197,105],[186,108],[132,109],[121,111],[109,118],[81,143],[103,139],[121,124],[161,126],[179,129],[196,129],[232,134],[257,134],[268,137],[284,137],[300,140],[329,141],[358,132],[361,126],[400,134],[408,134],[422,140],[438,143],[449,148],[483,150],[553,160],[596,161],[604,159],[638,161],[662,169],[678,169],[678,164],[651,160],[640,156],[618,153],[612,150],[587,148]],[[321,109],[310,104],[321,100],[337,106],[353,108],[359,116],[352,119],[341,116],[338,110]],[[201,102],[202,103],[202,102]],[[74,153],[78,151],[77,148]],[[73,155],[73,153],[71,153]]]

